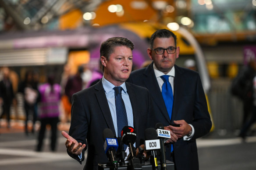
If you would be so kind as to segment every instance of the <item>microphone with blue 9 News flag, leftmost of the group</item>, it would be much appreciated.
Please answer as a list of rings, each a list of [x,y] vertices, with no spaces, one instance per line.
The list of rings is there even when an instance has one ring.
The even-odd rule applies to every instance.
[[[114,167],[114,170],[117,170],[117,157],[116,157],[116,151],[118,148],[118,142],[117,139],[114,139],[114,134],[111,131],[110,128],[105,128],[103,130],[103,140],[104,142],[104,151],[107,154],[108,160]]]

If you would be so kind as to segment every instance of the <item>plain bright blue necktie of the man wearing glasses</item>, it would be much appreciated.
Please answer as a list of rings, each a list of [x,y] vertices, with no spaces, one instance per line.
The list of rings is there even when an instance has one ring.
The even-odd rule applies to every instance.
[[[172,113],[172,105],[173,105],[173,93],[171,84],[169,82],[169,76],[164,75],[161,76],[161,79],[164,80],[164,84],[162,86],[162,96],[164,98],[164,104],[167,109],[167,112],[169,114],[170,120],[171,120],[171,113]],[[173,151],[173,145],[171,145],[171,152]]]

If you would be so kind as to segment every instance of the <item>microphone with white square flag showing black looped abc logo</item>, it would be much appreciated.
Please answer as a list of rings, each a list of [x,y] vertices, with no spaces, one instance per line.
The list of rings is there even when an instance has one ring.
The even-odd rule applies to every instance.
[[[160,140],[157,139],[156,129],[147,128],[145,130],[145,149],[151,151],[150,163],[153,170],[158,170],[156,150],[160,149]]]

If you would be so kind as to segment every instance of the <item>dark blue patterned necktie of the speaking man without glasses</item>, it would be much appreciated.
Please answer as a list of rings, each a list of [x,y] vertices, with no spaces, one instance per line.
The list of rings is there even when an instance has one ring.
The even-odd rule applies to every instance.
[[[122,90],[120,86],[113,88],[115,91],[115,103],[116,103],[116,112],[117,112],[117,135],[121,137],[121,131],[124,126],[128,126],[126,109],[124,106],[124,101],[122,99]]]

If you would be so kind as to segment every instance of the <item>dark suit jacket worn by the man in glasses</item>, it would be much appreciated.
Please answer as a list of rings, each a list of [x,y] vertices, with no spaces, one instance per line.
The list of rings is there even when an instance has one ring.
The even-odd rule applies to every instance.
[[[181,138],[174,143],[174,158],[177,170],[198,170],[196,139],[210,131],[212,126],[210,114],[199,74],[176,65],[174,68],[174,103],[171,120],[156,80],[153,62],[146,68],[133,71],[127,81],[149,90],[153,98],[155,115],[152,119],[156,120],[155,123],[161,122],[167,126],[174,120],[183,119],[188,124],[193,125],[195,134],[192,139],[184,141]],[[170,160],[170,145],[166,147],[166,156]]]

